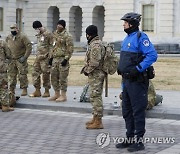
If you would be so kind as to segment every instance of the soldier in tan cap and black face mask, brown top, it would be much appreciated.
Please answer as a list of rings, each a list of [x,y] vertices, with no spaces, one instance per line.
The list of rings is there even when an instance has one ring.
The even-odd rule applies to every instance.
[[[32,44],[28,37],[19,31],[16,24],[11,25],[10,29],[11,34],[6,38],[12,56],[12,61],[8,67],[10,91],[15,93],[17,75],[19,73],[20,87],[23,89],[21,96],[25,96],[28,88],[27,59],[31,54]]]

